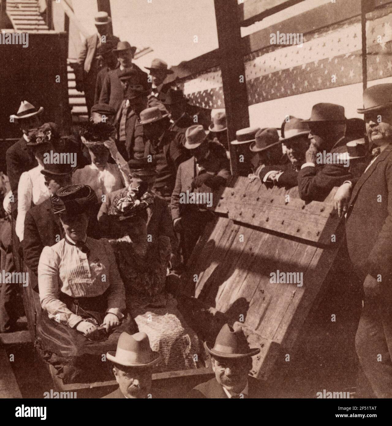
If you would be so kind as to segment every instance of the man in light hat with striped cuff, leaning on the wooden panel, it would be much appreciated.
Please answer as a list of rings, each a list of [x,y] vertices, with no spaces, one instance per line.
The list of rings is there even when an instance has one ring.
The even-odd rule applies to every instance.
[[[274,129],[275,130],[275,129]],[[292,117],[285,125],[284,137],[280,142],[286,147],[285,163],[259,167],[256,174],[264,184],[285,187],[286,189],[298,185],[298,170],[305,162],[305,153],[309,148],[309,127],[300,118]],[[258,135],[256,135],[256,144]],[[252,147],[252,146],[251,146]]]

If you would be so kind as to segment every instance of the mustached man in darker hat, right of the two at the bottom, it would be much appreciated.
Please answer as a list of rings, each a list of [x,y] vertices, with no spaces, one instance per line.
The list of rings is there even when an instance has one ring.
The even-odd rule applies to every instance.
[[[241,327],[223,325],[214,346],[205,342],[204,347],[211,355],[215,377],[197,385],[188,398],[263,398],[261,382],[249,376],[252,357],[259,348],[249,348]]]

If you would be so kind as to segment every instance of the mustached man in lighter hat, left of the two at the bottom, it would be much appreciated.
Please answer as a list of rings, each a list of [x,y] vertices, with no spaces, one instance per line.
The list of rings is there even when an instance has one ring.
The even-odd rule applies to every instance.
[[[118,388],[103,399],[163,398],[160,391],[152,389],[152,371],[160,354],[150,348],[146,333],[120,334],[116,352],[108,352],[106,358],[113,363],[113,373]]]

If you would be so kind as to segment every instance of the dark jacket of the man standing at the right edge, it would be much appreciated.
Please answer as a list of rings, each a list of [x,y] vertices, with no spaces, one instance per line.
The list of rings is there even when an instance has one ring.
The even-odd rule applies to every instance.
[[[381,199],[380,199],[381,197]],[[380,201],[381,200],[381,201]],[[361,278],[392,280],[392,146],[378,155],[355,184],[346,220],[350,259]]]

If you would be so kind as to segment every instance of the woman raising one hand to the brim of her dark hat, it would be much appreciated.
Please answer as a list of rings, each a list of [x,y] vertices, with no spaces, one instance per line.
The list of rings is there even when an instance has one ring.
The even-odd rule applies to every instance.
[[[119,190],[131,183],[129,166],[118,152],[112,138],[114,127],[109,123],[89,121],[80,129],[80,138],[89,149],[92,164],[75,170],[72,175],[74,184],[86,184],[92,187],[102,202],[102,195]],[[108,163],[109,153],[116,164]]]

